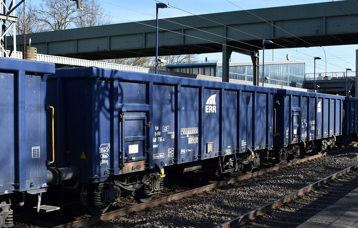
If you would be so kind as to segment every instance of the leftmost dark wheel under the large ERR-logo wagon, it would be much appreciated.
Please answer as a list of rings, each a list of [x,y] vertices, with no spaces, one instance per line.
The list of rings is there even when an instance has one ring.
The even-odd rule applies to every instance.
[[[88,213],[88,214],[92,214],[92,215],[100,215],[106,212],[106,210],[108,209],[108,206],[95,206],[93,205],[93,198],[96,197],[95,194],[93,194],[95,192],[96,188],[91,185],[91,184],[83,184],[82,186],[82,190],[81,190],[81,196],[80,196],[80,201],[81,201],[81,205],[83,210]]]

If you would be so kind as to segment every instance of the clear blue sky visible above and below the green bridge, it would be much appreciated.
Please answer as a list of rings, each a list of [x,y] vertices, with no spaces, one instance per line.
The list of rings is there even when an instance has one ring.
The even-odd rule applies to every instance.
[[[32,0],[33,3],[40,0]],[[161,0],[163,3],[168,3],[168,0]],[[287,0],[229,0],[232,3],[240,6],[243,9],[258,9],[276,6],[286,5],[298,5],[309,3],[321,3],[328,2],[330,0],[299,0],[299,1],[287,1]],[[99,0],[101,6],[107,11],[107,14],[114,16],[112,23],[125,23],[129,21],[141,21],[155,19],[155,3],[154,0]],[[339,4],[339,1],[336,1]],[[237,6],[229,3],[226,0],[169,0],[169,4],[188,11],[193,14],[208,14],[219,13],[226,11],[242,10]],[[129,8],[139,11],[140,13],[132,10],[121,8]],[[188,16],[191,15],[182,10],[175,8],[159,9],[160,18],[171,18],[176,16]],[[341,10],[337,6],[337,10]],[[357,4],[358,10],[358,4]],[[148,15],[146,15],[148,14]],[[127,20],[115,18],[124,18]],[[260,16],[260,15],[258,15]],[[129,21],[128,21],[129,20]],[[160,26],[159,26],[160,27]],[[276,49],[274,50],[274,60],[286,60],[286,54],[290,54],[291,60],[308,60],[306,63],[306,73],[313,72],[313,57],[321,57],[322,60],[316,61],[316,72],[339,72],[345,71],[345,68],[351,68],[355,71],[355,49],[358,49],[358,45],[347,46],[326,46],[322,48],[293,48],[293,49]],[[326,56],[325,56],[326,55]],[[218,60],[221,62],[221,53],[200,54],[198,60],[204,60],[208,57],[209,60]],[[262,59],[262,52],[260,51],[260,60]],[[325,61],[326,59],[326,61]],[[272,50],[265,50],[265,60],[272,60]],[[231,61],[251,61],[249,56],[245,56],[238,53],[233,53]]]

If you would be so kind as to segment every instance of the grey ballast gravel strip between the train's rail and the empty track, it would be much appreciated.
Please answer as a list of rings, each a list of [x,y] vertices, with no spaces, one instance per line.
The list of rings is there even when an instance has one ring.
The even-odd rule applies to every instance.
[[[358,149],[352,148],[92,227],[214,227],[355,163]]]

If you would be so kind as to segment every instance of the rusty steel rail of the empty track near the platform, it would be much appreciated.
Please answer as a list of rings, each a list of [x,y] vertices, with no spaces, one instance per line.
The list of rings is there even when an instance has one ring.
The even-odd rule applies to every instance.
[[[293,193],[282,196],[280,199],[272,201],[271,203],[268,203],[266,205],[263,205],[259,208],[254,209],[250,212],[247,212],[246,214],[243,214],[240,217],[236,217],[236,218],[231,219],[225,223],[222,223],[222,224],[216,226],[215,228],[237,227],[238,225],[242,225],[242,224],[246,223],[248,220],[254,220],[259,215],[264,215],[267,212],[274,210],[278,206],[282,206],[283,204],[291,201],[292,199],[296,199],[299,196],[304,195],[305,193],[308,193],[309,191],[316,189],[317,187],[320,187],[320,186],[336,179],[337,177],[347,174],[348,172],[350,172],[356,168],[358,168],[358,163],[355,165],[352,165],[348,168],[345,168],[344,170],[336,172],[335,174],[332,174],[328,177],[325,177],[324,179],[316,181],[313,184],[303,187]]]

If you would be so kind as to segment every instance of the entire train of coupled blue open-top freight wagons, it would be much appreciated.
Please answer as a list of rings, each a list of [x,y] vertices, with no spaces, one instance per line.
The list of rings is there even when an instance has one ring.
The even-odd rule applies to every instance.
[[[78,189],[83,208],[100,214],[124,192],[150,200],[173,171],[225,179],[357,135],[356,98],[95,67],[54,72],[9,58],[0,66],[0,227],[13,225],[10,206],[26,195],[49,212],[59,207],[41,205],[43,193]]]

